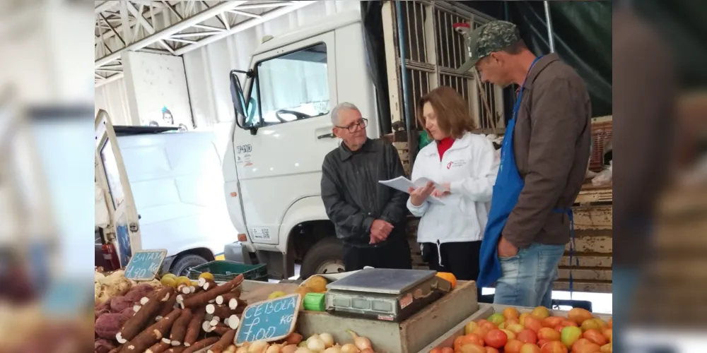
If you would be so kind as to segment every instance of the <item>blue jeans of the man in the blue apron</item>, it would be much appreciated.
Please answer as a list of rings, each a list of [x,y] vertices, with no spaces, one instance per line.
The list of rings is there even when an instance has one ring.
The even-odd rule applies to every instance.
[[[545,306],[552,304],[552,283],[565,252],[563,245],[533,243],[516,256],[500,258],[501,278],[496,282],[493,304]]]

